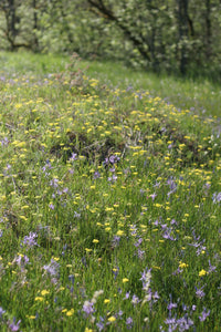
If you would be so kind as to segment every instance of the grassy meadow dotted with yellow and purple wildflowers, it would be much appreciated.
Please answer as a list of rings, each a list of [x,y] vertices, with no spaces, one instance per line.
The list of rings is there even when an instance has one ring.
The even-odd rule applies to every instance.
[[[0,330],[220,331],[220,87],[0,62]]]

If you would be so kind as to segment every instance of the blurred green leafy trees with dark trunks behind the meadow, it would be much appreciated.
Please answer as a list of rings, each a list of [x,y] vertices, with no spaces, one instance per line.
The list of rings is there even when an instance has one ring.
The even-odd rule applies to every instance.
[[[0,45],[221,75],[221,0],[0,0]]]

